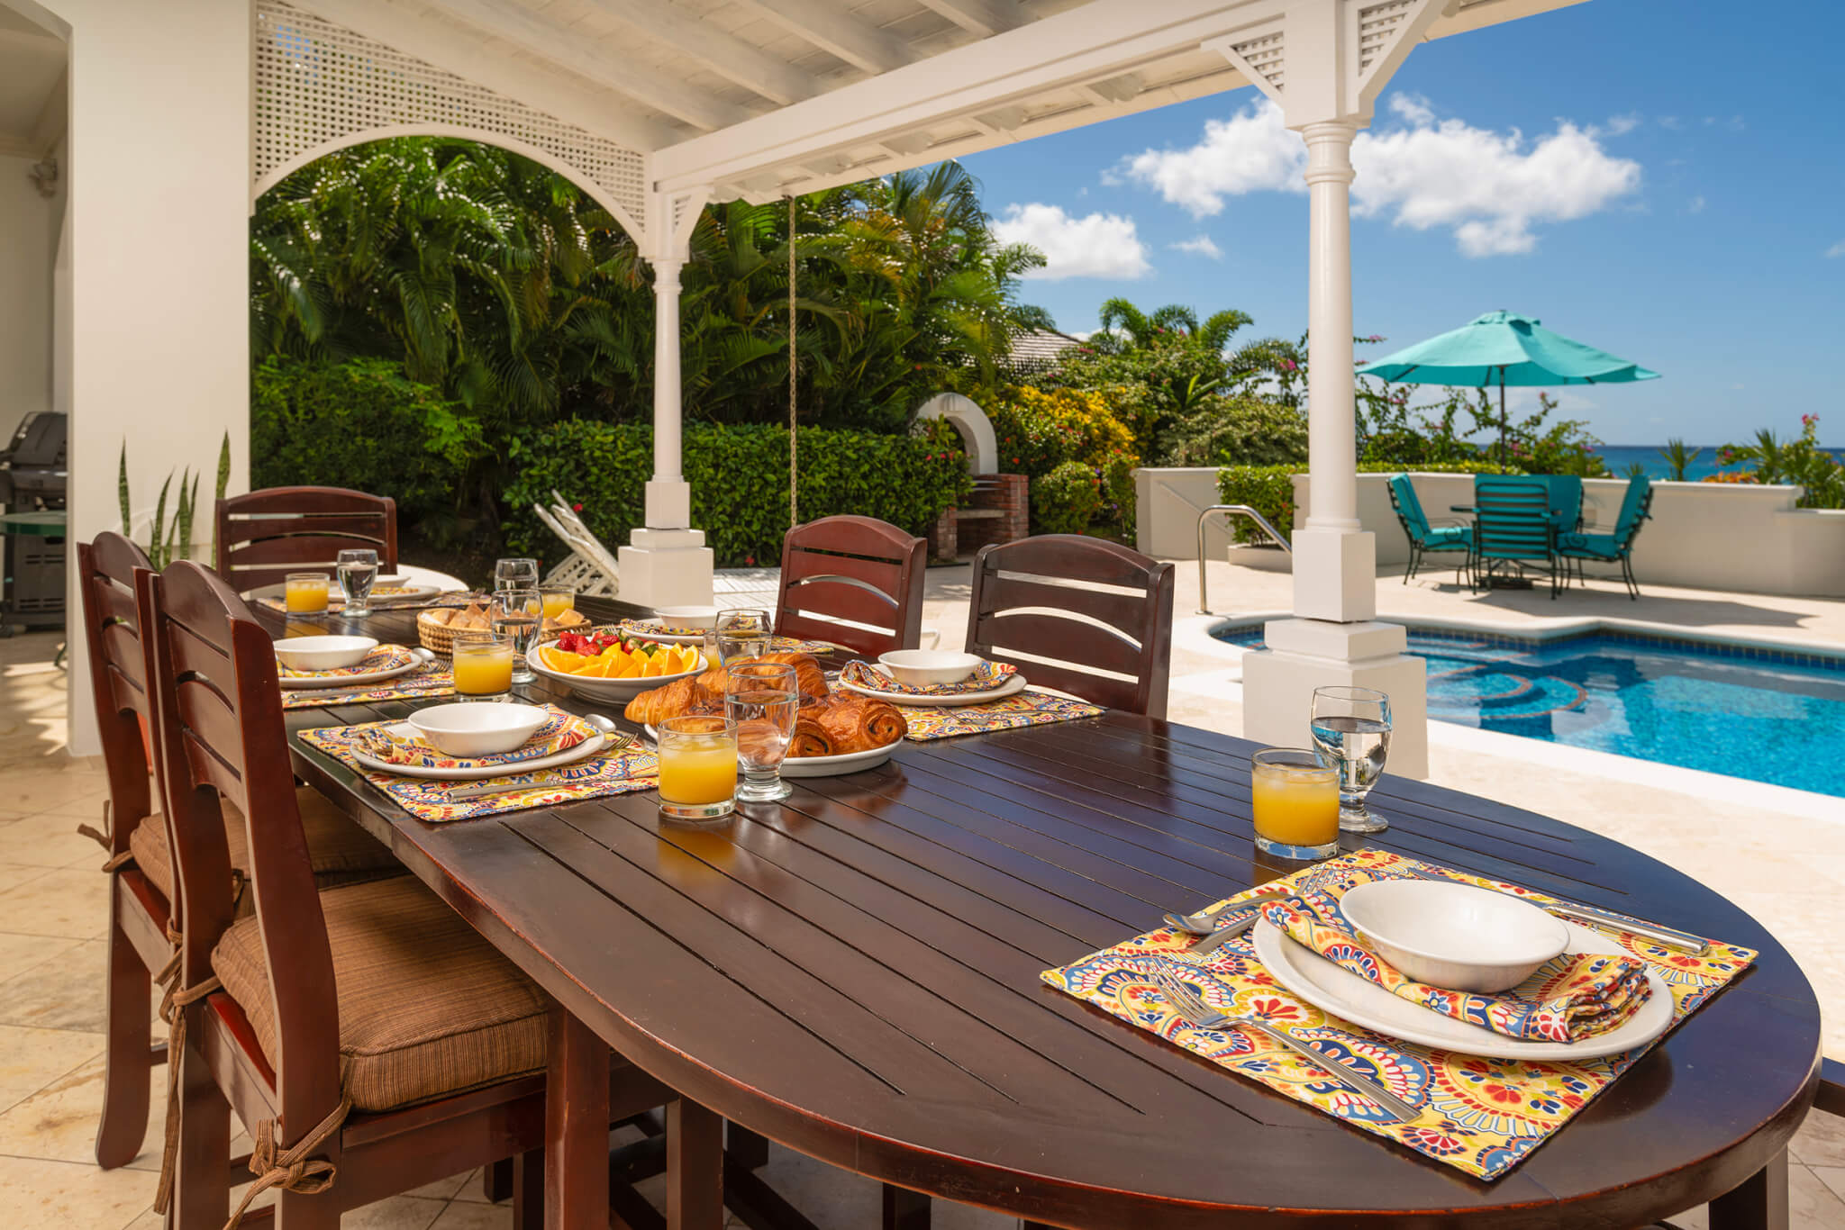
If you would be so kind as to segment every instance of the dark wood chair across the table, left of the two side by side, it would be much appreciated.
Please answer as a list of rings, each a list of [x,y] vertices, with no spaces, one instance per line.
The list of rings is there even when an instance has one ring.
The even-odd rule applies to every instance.
[[[928,540],[875,516],[823,516],[782,538],[780,636],[878,656],[922,640]]]

